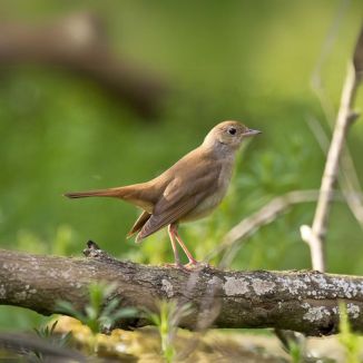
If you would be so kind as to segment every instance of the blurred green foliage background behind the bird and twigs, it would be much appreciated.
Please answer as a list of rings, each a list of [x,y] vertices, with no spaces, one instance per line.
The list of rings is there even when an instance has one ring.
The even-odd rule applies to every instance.
[[[105,20],[119,57],[159,75],[173,89],[159,114],[146,118],[66,69],[36,65],[0,69],[1,248],[78,256],[92,239],[120,258],[170,262],[165,230],[139,246],[126,241],[138,215],[133,206],[107,198],[69,200],[61,195],[150,179],[224,119],[242,120],[263,135],[244,147],[222,207],[209,218],[182,227],[198,258],[274,196],[320,186],[324,155],[306,119],[316,117],[326,131],[330,128],[311,77],[341,11],[332,52],[322,69],[327,96],[337,109],[362,20],[361,1],[13,0],[0,4],[2,22],[42,23],[92,11]],[[361,180],[362,130],[360,119],[349,137]],[[308,248],[298,228],[312,222],[313,213],[313,204],[300,205],[261,228],[230,267],[310,268]],[[362,254],[362,230],[346,205],[335,204],[328,271],[363,274]],[[0,306],[1,328],[29,327],[37,318]]]

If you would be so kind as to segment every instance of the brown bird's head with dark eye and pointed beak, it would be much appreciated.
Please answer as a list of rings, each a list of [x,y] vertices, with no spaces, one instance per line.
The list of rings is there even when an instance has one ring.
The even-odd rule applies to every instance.
[[[246,137],[261,134],[238,121],[224,121],[216,125],[206,136],[203,145],[207,147],[223,147],[227,149],[237,149],[242,140]]]

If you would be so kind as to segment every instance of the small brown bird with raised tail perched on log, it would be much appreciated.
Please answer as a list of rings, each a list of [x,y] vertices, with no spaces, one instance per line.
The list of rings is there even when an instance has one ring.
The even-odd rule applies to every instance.
[[[227,192],[241,143],[257,134],[261,131],[238,121],[224,121],[208,133],[199,147],[153,180],[65,195],[114,197],[140,207],[144,212],[127,236],[137,234],[136,242],[139,242],[168,226],[176,265],[182,266],[177,243],[188,257],[188,265],[197,265],[178,234],[178,225],[205,217],[218,206]]]

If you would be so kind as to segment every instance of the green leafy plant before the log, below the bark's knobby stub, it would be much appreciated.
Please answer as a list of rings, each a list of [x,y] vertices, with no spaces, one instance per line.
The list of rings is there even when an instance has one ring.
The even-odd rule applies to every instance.
[[[133,317],[136,314],[134,307],[119,308],[119,298],[110,298],[115,290],[115,284],[91,283],[88,287],[89,303],[86,305],[85,312],[78,311],[66,301],[59,302],[58,308],[67,315],[75,316],[87,325],[92,334],[97,334],[110,328],[118,320]]]

